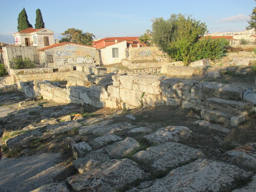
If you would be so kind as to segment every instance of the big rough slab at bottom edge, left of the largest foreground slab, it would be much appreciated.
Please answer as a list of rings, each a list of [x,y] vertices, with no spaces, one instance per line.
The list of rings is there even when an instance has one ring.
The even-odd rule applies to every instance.
[[[74,191],[113,192],[146,176],[134,161],[113,159],[89,172],[69,177],[66,182]]]

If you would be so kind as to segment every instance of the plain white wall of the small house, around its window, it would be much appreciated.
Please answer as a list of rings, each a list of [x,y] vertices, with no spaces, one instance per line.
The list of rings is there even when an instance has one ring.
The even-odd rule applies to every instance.
[[[113,58],[112,56],[112,48],[118,48],[118,57]],[[119,42],[118,44],[108,46],[100,50],[101,59],[103,65],[111,65],[113,63],[121,62],[122,59],[126,58],[126,41]]]

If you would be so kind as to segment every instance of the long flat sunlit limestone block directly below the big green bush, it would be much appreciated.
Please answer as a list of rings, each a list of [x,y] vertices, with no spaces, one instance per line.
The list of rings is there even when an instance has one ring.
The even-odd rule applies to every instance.
[[[192,76],[197,73],[198,68],[196,67],[162,67],[161,73],[174,76]]]

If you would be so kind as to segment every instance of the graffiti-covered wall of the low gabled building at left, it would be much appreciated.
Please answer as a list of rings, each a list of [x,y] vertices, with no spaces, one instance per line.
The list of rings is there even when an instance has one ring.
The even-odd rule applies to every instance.
[[[67,44],[40,52],[42,62],[47,61],[48,55],[52,55],[53,62],[48,62],[48,67],[79,64],[100,64],[99,50],[93,47]]]

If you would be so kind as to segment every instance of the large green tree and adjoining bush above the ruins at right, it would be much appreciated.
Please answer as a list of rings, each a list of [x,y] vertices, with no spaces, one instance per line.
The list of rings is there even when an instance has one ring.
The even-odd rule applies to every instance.
[[[152,24],[152,40],[175,61],[189,62],[198,59],[220,59],[225,55],[228,41],[201,39],[207,32],[205,23],[191,16],[172,14],[164,20],[156,18]]]

